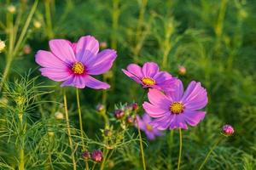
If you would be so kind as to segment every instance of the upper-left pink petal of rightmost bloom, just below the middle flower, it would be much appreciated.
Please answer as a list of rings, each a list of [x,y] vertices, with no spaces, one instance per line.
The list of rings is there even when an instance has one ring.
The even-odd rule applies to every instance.
[[[153,105],[158,105],[159,107],[168,110],[169,105],[171,105],[171,100],[166,97],[160,90],[149,89],[148,100]]]

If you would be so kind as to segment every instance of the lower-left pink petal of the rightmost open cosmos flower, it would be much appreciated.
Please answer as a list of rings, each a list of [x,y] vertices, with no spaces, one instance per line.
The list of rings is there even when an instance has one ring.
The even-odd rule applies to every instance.
[[[155,118],[165,116],[166,113],[168,114],[168,111],[158,108],[157,106],[152,105],[148,102],[143,103],[143,109],[146,111],[146,113],[148,113],[149,116]]]

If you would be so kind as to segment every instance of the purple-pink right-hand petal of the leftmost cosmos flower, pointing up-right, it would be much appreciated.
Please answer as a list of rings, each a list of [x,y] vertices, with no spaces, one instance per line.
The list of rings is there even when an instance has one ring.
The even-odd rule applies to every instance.
[[[112,65],[117,54],[113,49],[105,49],[96,57],[91,57],[86,61],[87,73],[90,75],[100,75],[108,71]]]

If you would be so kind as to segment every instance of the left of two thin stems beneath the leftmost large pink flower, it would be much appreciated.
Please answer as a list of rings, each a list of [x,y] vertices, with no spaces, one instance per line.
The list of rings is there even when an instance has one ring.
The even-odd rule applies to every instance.
[[[73,153],[73,142],[72,142],[72,137],[71,137],[71,132],[70,132],[70,125],[69,125],[69,118],[68,118],[68,111],[67,111],[67,96],[66,92],[63,92],[63,99],[64,99],[64,107],[65,107],[65,115],[66,115],[66,122],[67,122],[67,135],[68,135],[68,140],[69,140],[69,146],[71,149],[71,156],[72,156],[72,161],[73,161],[73,170],[77,169],[77,163],[74,157]]]

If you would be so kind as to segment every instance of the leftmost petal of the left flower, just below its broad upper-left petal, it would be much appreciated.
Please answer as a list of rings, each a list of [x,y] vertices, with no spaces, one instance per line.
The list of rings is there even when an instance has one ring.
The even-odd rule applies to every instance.
[[[42,67],[66,69],[67,64],[61,59],[58,59],[54,54],[49,51],[39,50],[36,54],[36,62]]]

